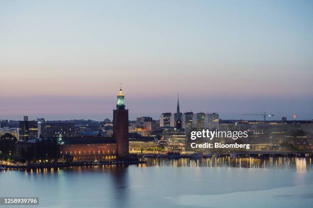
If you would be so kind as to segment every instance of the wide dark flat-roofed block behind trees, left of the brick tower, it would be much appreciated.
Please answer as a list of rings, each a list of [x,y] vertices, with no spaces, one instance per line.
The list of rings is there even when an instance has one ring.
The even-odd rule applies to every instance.
[[[74,123],[68,121],[44,121],[40,123],[40,137],[74,137]]]

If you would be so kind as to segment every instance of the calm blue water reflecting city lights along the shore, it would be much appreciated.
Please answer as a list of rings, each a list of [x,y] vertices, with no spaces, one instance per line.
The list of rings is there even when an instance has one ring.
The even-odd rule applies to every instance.
[[[285,208],[313,203],[310,158],[145,160],[130,166],[1,171],[0,196],[39,197],[39,207]]]

